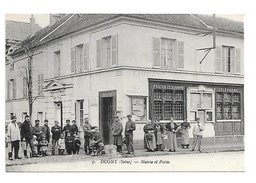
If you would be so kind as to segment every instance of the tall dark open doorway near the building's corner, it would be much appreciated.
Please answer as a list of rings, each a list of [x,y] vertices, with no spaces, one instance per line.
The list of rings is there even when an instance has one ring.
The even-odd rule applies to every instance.
[[[116,91],[100,92],[100,133],[104,144],[113,143],[111,126],[116,111]]]

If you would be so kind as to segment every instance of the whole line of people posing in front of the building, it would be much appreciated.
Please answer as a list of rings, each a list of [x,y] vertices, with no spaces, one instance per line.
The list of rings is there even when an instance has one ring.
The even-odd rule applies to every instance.
[[[113,144],[116,146],[118,153],[122,154],[122,146],[126,144],[127,154],[134,154],[133,147],[133,132],[136,130],[136,125],[132,121],[132,116],[127,116],[128,121],[125,124],[124,137],[123,126],[117,115],[114,116],[114,122],[111,130],[113,134]],[[32,126],[30,118],[27,115],[23,123],[16,122],[16,116],[12,116],[12,122],[7,126],[7,141],[10,144],[8,159],[21,159],[19,156],[19,148],[21,146],[24,157],[28,158],[28,148],[30,147],[30,157],[42,157],[48,155],[55,155],[56,149],[59,155],[79,154],[81,141],[79,140],[79,129],[76,121],[66,120],[63,129],[59,126],[58,121],[54,122],[54,126],[48,126],[48,120],[44,120],[44,125],[40,126],[40,121],[35,120],[35,125]],[[192,133],[194,140],[192,144],[192,151],[194,151],[196,144],[198,150],[201,152],[201,140],[203,125],[200,119],[197,118],[197,123],[194,125]],[[97,126],[91,126],[89,119],[84,119],[82,125],[84,132],[84,152],[86,155],[99,155],[104,153],[104,144],[102,135],[99,133]],[[177,150],[177,132],[182,134],[182,148],[189,148],[189,129],[190,124],[187,121],[177,125],[174,122],[173,116],[167,124],[160,123],[159,120],[149,121],[143,128],[144,131],[144,147],[149,152],[163,151],[169,149],[170,152]],[[51,152],[49,152],[49,143],[51,139]]]

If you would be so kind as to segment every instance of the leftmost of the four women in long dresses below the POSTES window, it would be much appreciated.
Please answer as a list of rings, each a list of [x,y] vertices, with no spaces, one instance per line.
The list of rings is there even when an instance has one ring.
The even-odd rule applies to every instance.
[[[151,123],[151,120],[149,120],[148,124],[144,126],[143,131],[145,133],[144,147],[149,152],[153,152],[154,149],[156,148],[156,138],[155,138],[154,125]]]

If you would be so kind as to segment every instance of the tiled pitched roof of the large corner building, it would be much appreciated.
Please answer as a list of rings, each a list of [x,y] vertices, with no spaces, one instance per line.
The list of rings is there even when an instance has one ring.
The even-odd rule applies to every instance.
[[[190,14],[67,14],[51,26],[47,26],[32,37],[23,41],[30,48],[43,45],[62,36],[92,27],[99,23],[117,18],[130,17],[170,25],[179,25],[183,27],[193,27],[197,29],[207,29],[206,25],[212,26],[211,16],[190,15]],[[197,17],[197,18],[196,18]],[[231,21],[228,19],[216,17],[217,30],[237,32],[243,34],[243,23]],[[14,54],[22,52],[16,50]]]

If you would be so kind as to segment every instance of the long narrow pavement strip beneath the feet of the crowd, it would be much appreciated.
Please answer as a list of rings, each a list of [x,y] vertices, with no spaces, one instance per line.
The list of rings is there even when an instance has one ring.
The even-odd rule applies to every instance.
[[[218,152],[232,152],[232,151],[244,151],[243,144],[218,144],[213,146],[202,146],[202,153],[218,153]],[[134,155],[126,154],[126,151],[122,155],[118,155],[117,158],[132,158],[132,157],[145,157],[145,156],[159,156],[159,155],[179,155],[179,154],[197,154],[199,153],[197,149],[191,151],[191,149],[181,149],[178,148],[176,152],[169,152],[168,150],[147,152],[143,150],[135,150]],[[20,154],[21,155],[21,154]],[[7,160],[6,166],[15,165],[25,165],[25,164],[43,164],[48,162],[73,162],[73,161],[88,161],[88,160],[98,160],[98,159],[108,159],[107,155],[103,156],[91,156],[85,155],[83,149],[80,150],[78,155],[54,155],[46,156],[41,158],[24,158],[17,160]]]

